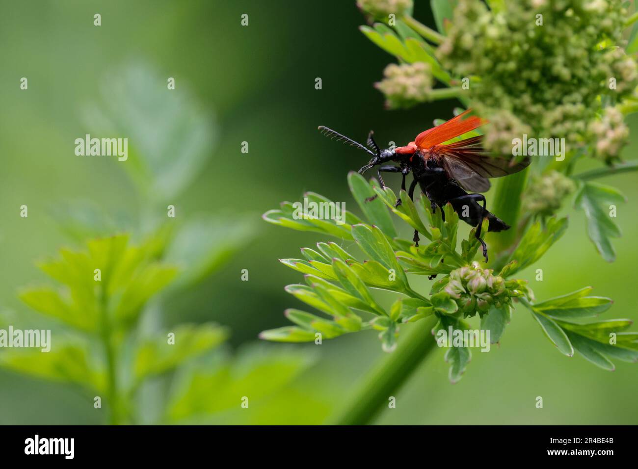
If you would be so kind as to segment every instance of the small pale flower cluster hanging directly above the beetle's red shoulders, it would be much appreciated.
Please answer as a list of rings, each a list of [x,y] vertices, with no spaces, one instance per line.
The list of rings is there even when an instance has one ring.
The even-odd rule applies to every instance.
[[[385,94],[387,107],[410,107],[425,101],[432,91],[431,68],[423,62],[389,64],[375,86]]]

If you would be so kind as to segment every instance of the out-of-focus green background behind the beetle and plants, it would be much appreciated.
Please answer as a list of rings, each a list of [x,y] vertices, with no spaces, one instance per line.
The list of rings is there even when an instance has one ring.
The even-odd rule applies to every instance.
[[[102,26],[93,26],[94,13],[101,14]],[[248,27],[240,25],[242,13],[249,15]],[[427,2],[417,3],[415,17],[433,24]],[[188,189],[170,202],[178,216],[237,212],[256,220],[254,237],[235,257],[165,305],[166,322],[226,325],[232,350],[255,342],[263,329],[286,325],[283,310],[300,303],[283,287],[301,276],[278,258],[299,257],[300,247],[325,240],[267,225],[260,214],[282,200],[297,200],[306,190],[354,209],[346,174],[366,160],[322,137],[316,127],[330,126],[359,140],[372,128],[380,143],[405,144],[434,118],[450,117],[457,105],[445,101],[407,112],[384,110],[373,83],[390,57],[358,31],[363,23],[354,1],[343,0],[0,0],[0,306],[17,318],[14,327],[29,315],[17,289],[45,281],[34,262],[69,244],[48,214],[52,205],[91,202],[117,220],[143,216],[144,202],[122,170],[128,162],[73,153],[75,138],[90,131],[87,108],[103,102],[100,96],[108,99],[103,89],[119,82],[131,64],[154,70],[164,86],[167,77],[174,77],[176,89],[170,93],[188,90],[211,116],[216,138],[207,159]],[[20,91],[21,77],[28,78],[28,91]],[[322,90],[315,89],[316,77],[322,78]],[[634,133],[626,159],[638,147],[638,122],[630,124]],[[249,142],[248,154],[240,151],[243,141]],[[180,158],[179,151],[174,158]],[[567,234],[535,266],[544,270],[544,281],[533,279],[533,269],[521,276],[531,279],[537,299],[593,285],[594,294],[614,299],[606,317],[636,319],[638,213],[632,207],[638,186],[634,174],[602,182],[611,179],[628,198],[618,209],[623,238],[615,242],[616,262],[600,258],[586,237],[582,214],[566,207]],[[397,181],[387,178],[390,185]],[[29,207],[28,218],[19,216],[22,204]],[[119,228],[126,226],[122,222]],[[249,270],[249,281],[240,280],[241,269]],[[427,279],[413,282],[429,288]],[[323,422],[383,354],[375,332],[346,335],[320,347],[299,346],[304,349],[316,352],[315,364],[250,417],[228,412],[212,421]],[[378,422],[635,424],[638,370],[624,362],[616,365],[609,373],[582,357],[561,355],[519,308],[500,346],[489,354],[475,351],[461,382],[449,383],[443,352],[438,352],[396,396],[396,409],[384,410]],[[535,408],[536,396],[544,399],[543,409]],[[0,423],[101,422],[72,387],[0,371]]]

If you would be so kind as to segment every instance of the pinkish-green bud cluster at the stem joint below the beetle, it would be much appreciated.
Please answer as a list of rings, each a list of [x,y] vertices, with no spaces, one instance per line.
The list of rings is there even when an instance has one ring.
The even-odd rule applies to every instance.
[[[533,298],[524,280],[505,280],[494,275],[492,269],[482,269],[479,262],[459,267],[436,285],[438,295],[447,295],[456,303],[455,313],[464,317],[482,317],[491,308],[503,308],[512,304],[514,297]]]

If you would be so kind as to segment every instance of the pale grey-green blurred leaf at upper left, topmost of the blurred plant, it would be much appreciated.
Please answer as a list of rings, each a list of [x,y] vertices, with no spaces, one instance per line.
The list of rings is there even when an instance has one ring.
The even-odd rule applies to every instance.
[[[111,70],[101,99],[85,110],[92,137],[128,138],[123,165],[149,200],[172,200],[198,175],[211,154],[216,125],[186,84],[167,89],[166,78],[143,61]]]

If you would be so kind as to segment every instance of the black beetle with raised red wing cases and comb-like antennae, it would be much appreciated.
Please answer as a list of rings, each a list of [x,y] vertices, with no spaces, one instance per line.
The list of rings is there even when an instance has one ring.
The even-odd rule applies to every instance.
[[[414,200],[414,190],[419,184],[432,211],[436,212],[436,207],[440,207],[443,218],[443,207],[447,203],[452,204],[459,218],[476,228],[475,237],[483,248],[483,257],[487,262],[487,246],[480,237],[482,221],[487,218],[487,231],[491,232],[508,230],[510,226],[487,211],[485,196],[480,192],[489,190],[488,178],[517,173],[530,164],[530,159],[511,161],[508,158],[490,156],[482,145],[482,135],[445,144],[486,123],[484,119],[471,115],[471,109],[468,109],[449,121],[419,133],[408,145],[387,149],[380,149],[376,144],[373,131],[368,134],[366,147],[325,126],[319,126],[318,129],[327,137],[338,138],[371,154],[371,160],[359,169],[359,174],[378,167],[379,182],[384,187],[383,172],[401,173],[403,190],[406,190],[406,176],[412,172],[413,180],[407,190],[408,197]],[[387,164],[390,162],[397,164]],[[376,195],[367,200],[374,198]],[[399,205],[401,198],[395,204],[396,207]],[[413,241],[415,246],[419,246],[418,230],[414,230]]]

